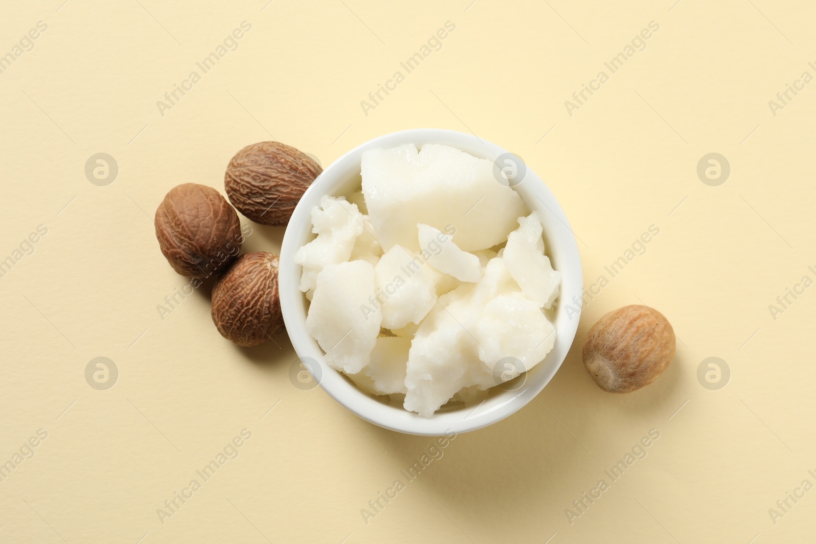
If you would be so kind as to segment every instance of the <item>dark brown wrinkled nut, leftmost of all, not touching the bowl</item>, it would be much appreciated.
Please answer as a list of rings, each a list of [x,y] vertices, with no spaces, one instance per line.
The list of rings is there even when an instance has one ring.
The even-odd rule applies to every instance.
[[[156,237],[175,272],[204,279],[227,268],[241,250],[238,215],[214,188],[181,184],[156,210]]]

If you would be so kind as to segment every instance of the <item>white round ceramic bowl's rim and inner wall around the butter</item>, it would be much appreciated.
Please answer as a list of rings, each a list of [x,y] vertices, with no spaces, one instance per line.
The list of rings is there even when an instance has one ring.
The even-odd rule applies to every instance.
[[[286,330],[298,356],[303,360],[310,358],[317,361],[319,368],[313,369],[312,374],[320,386],[340,405],[360,418],[392,431],[413,435],[441,436],[450,431],[456,433],[473,431],[507,418],[508,415],[533,400],[564,361],[575,337],[575,330],[578,328],[580,301],[583,294],[583,275],[578,245],[575,243],[570,223],[556,197],[552,195],[539,176],[528,167],[525,178],[514,188],[521,194],[527,207],[538,212],[543,225],[547,254],[552,260],[553,268],[561,272],[561,294],[558,298],[554,321],[557,330],[555,347],[542,362],[526,373],[526,379],[517,378],[524,382],[521,387],[514,391],[504,391],[494,387],[493,389],[498,391],[483,404],[469,407],[462,405],[458,409],[443,407],[432,418],[423,418],[418,414],[408,412],[401,406],[386,405],[366,395],[357,389],[348,378],[326,365],[321,348],[306,332],[308,300],[299,290],[301,267],[295,264],[294,257],[299,247],[312,238],[311,210],[317,206],[321,197],[327,194],[339,196],[359,188],[362,153],[366,149],[392,148],[403,144],[415,144],[417,147],[424,144],[445,144],[491,161],[500,154],[507,153],[497,145],[462,132],[415,129],[380,136],[352,149],[343,157],[339,157],[326,170],[323,170],[323,173],[304,193],[286,228],[281,248],[279,276],[283,320],[286,322]],[[578,304],[574,302],[576,300],[579,301]],[[577,308],[579,312],[570,312],[571,315],[568,316],[567,303]],[[307,367],[311,368],[309,365]]]

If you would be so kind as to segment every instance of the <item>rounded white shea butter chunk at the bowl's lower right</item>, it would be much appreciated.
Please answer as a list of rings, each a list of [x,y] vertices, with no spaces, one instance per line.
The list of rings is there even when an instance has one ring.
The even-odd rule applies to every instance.
[[[518,292],[499,294],[486,303],[475,335],[479,359],[488,368],[493,369],[505,357],[521,362],[521,369],[513,369],[508,379],[538,365],[556,342],[555,326],[538,304]]]

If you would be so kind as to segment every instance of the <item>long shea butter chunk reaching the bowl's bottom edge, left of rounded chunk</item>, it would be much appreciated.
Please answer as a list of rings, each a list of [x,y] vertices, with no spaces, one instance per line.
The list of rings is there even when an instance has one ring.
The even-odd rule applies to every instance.
[[[477,325],[486,303],[518,289],[503,259],[494,258],[476,284],[465,283],[440,297],[411,342],[405,409],[430,418],[463,387],[496,385],[492,367],[479,358]]]

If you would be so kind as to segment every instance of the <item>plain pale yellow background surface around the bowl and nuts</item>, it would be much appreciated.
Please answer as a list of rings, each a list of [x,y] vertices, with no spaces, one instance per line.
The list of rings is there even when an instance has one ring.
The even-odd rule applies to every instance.
[[[775,321],[768,306],[816,279],[816,84],[776,117],[768,101],[816,75],[816,7],[61,2],[7,2],[0,17],[0,55],[48,25],[0,74],[0,259],[48,229],[0,279],[0,462],[48,433],[0,483],[3,542],[812,541],[816,491],[776,524],[768,510],[816,484],[816,288]],[[243,20],[237,51],[162,117],[157,100]],[[446,20],[456,29],[441,51],[366,116],[360,101]],[[645,51],[570,117],[564,101],[651,20]],[[255,141],[326,166],[426,126],[524,157],[580,238],[587,285],[651,224],[660,234],[588,304],[538,402],[456,437],[366,524],[361,508],[432,439],[293,387],[286,336],[231,345],[205,289],[162,321],[157,305],[186,281],[159,253],[153,213],[175,184],[223,191],[229,158]],[[100,152],[120,169],[106,187],[84,173]],[[732,167],[719,187],[696,175],[711,152]],[[245,249],[277,251],[281,238],[255,226]],[[672,321],[676,360],[650,387],[610,395],[580,346],[598,317],[639,301]],[[84,378],[97,356],[119,369],[107,391]],[[698,383],[709,356],[731,369],[719,391]],[[240,456],[162,524],[157,508],[243,428]],[[650,429],[648,457],[570,524],[565,509]]]

